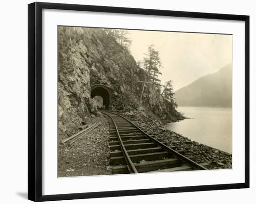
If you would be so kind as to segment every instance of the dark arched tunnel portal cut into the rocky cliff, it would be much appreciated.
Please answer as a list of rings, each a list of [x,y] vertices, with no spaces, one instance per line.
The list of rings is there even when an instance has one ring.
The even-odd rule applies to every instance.
[[[113,93],[113,89],[111,87],[96,84],[91,86],[91,98],[93,99],[95,96],[101,96],[103,99],[103,105],[108,110],[109,106],[111,105],[111,97]]]

